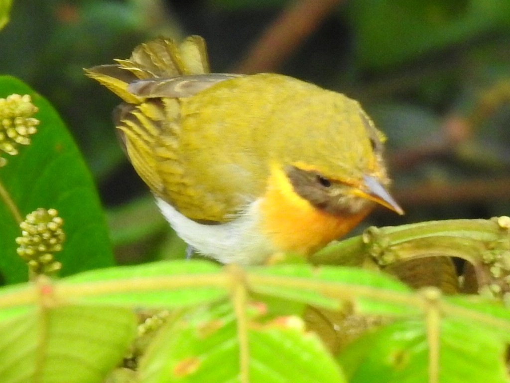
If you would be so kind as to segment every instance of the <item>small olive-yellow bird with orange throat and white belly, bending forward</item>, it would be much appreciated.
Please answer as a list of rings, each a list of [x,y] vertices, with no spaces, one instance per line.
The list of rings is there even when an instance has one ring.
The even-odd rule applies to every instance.
[[[114,119],[170,225],[223,263],[303,255],[387,192],[384,136],[345,95],[276,74],[210,74],[205,41],[155,39],[86,69],[124,101]]]

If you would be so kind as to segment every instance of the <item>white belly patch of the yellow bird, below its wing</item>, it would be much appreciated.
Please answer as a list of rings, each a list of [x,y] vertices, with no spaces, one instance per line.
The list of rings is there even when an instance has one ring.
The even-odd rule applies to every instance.
[[[167,202],[156,198],[161,213],[188,245],[223,264],[261,264],[275,253],[261,232],[260,201],[250,203],[239,217],[219,225],[203,225],[190,220]]]

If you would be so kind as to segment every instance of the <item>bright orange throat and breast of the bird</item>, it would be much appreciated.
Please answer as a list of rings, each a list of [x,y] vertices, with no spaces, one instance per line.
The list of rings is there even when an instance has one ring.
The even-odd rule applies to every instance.
[[[273,167],[261,201],[262,230],[281,251],[308,255],[345,235],[370,211],[339,216],[298,196],[287,176]]]

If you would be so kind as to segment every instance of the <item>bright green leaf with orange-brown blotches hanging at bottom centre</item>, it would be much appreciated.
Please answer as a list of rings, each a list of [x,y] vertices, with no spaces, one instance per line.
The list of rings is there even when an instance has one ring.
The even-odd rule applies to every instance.
[[[249,381],[345,381],[319,339],[306,333],[297,317],[287,319],[287,323],[273,321],[249,328]],[[140,362],[140,381],[237,382],[238,360],[236,317],[231,303],[202,307],[167,323]]]

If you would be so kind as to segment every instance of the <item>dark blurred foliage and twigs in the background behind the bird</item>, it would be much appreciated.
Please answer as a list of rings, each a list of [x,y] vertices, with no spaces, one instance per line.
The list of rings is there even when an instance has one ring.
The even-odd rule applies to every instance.
[[[120,262],[181,257],[184,245],[116,141],[119,100],[82,68],[189,34],[206,38],[214,71],[274,71],[362,103],[388,135],[407,214],[377,210],[356,233],[509,213],[508,0],[14,0],[0,72],[42,93],[72,129]]]

